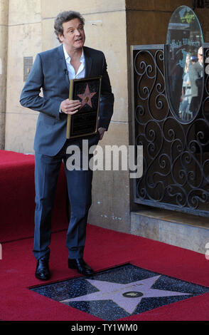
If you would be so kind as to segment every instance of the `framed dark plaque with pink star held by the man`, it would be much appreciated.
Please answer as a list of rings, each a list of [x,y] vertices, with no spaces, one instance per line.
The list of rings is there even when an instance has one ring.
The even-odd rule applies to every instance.
[[[69,100],[80,100],[77,113],[68,115],[66,138],[97,133],[102,76],[70,81]]]

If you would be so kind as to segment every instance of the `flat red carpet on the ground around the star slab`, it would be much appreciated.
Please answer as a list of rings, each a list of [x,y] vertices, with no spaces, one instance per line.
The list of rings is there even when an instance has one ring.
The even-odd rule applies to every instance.
[[[43,284],[34,277],[36,261],[33,259],[32,247],[33,239],[3,244],[3,259],[0,260],[0,319],[99,320],[95,316],[45,298],[28,289]],[[49,282],[77,277],[75,270],[68,269],[67,259],[65,232],[53,233],[50,257],[53,276]],[[203,254],[92,225],[87,227],[85,259],[96,271],[131,262],[144,269],[209,286],[209,262]],[[203,321],[209,319],[208,311],[209,294],[203,294],[123,320]]]

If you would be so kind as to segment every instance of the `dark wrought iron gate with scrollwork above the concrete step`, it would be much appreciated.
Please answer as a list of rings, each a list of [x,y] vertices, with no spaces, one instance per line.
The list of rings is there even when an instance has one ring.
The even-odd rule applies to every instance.
[[[195,118],[183,123],[166,96],[165,46],[133,46],[133,143],[143,145],[143,175],[134,202],[209,217],[209,79],[203,44],[203,98]]]

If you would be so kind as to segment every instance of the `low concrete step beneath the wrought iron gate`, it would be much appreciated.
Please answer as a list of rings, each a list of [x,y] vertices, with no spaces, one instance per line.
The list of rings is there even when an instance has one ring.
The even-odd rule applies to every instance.
[[[131,212],[131,234],[205,254],[209,217],[154,208],[139,210]]]

